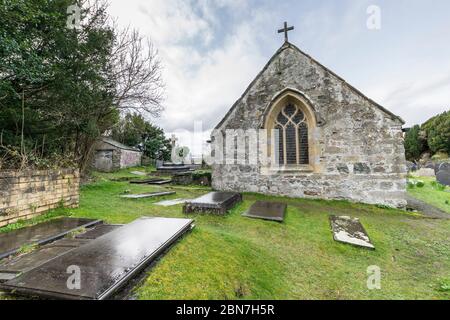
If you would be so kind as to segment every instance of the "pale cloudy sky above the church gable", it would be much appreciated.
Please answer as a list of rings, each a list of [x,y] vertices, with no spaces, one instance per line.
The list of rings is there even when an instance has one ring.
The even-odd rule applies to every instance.
[[[407,125],[450,109],[448,0],[110,0],[110,13],[150,37],[166,82],[166,132],[213,128],[282,45],[290,42]],[[432,3],[432,4],[431,4]],[[381,29],[367,9],[381,9]],[[197,137],[198,139],[198,137]]]

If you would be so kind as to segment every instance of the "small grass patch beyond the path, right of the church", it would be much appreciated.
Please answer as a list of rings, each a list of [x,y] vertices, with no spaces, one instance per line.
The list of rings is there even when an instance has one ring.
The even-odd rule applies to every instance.
[[[447,213],[450,213],[450,188],[447,187],[444,191],[436,190],[432,186],[432,182],[436,181],[435,178],[420,177],[412,178],[413,180],[421,180],[425,182],[423,188],[408,188],[408,193],[416,199],[429,203]]]

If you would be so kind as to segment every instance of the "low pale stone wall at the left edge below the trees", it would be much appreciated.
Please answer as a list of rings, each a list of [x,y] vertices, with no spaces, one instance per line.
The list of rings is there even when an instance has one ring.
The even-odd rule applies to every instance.
[[[0,227],[79,203],[78,170],[0,172]]]

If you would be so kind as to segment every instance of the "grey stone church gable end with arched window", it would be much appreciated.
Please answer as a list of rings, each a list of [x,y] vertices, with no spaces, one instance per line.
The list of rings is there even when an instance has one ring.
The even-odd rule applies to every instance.
[[[277,165],[268,167],[262,158],[216,161],[213,187],[402,208],[403,124],[286,37],[213,133],[214,156],[220,148],[238,148],[236,141],[218,144],[227,131],[269,132],[267,139],[259,138],[258,152]],[[252,149],[247,144],[241,150],[248,156]]]

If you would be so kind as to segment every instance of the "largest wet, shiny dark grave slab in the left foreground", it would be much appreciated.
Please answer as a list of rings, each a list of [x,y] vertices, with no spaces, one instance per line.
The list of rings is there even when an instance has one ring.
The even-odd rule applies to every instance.
[[[141,218],[0,284],[0,289],[44,298],[108,299],[192,227],[190,219]],[[70,266],[79,268],[79,289],[67,286]]]

